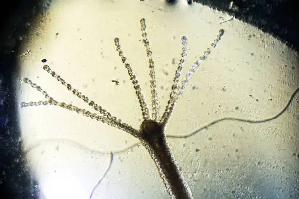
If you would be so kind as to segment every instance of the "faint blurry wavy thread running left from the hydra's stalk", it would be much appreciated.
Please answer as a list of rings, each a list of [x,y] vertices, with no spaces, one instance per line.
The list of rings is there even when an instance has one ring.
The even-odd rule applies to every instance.
[[[136,147],[140,144],[140,142],[136,143],[136,144],[133,144],[125,149],[121,149],[121,150],[117,150],[117,151],[101,151],[101,150],[94,150],[94,149],[91,149],[89,147],[86,147],[85,145],[83,144],[80,144],[79,142],[76,142],[76,141],[73,141],[71,139],[64,139],[64,138],[56,138],[56,139],[43,139],[43,140],[39,140],[39,141],[36,141],[34,144],[32,145],[29,145],[28,149],[24,151],[24,155],[26,155],[27,153],[29,153],[30,151],[34,150],[35,148],[41,146],[42,144],[46,143],[46,142],[65,142],[66,144],[69,144],[69,145],[73,145],[73,146],[76,146],[78,149],[82,149],[82,150],[87,150],[87,151],[90,151],[91,153],[95,153],[95,154],[102,154],[102,155],[105,155],[105,154],[110,154],[110,153],[113,153],[113,154],[121,154],[121,153],[125,153],[127,152],[129,149],[133,148],[133,147]]]

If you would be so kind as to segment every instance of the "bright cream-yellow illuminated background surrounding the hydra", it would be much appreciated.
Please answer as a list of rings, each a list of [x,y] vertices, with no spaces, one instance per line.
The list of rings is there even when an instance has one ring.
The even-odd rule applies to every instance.
[[[139,130],[144,118],[114,38],[119,38],[151,116],[142,18],[160,117],[180,63],[182,36],[188,50],[181,81],[224,30],[165,127],[192,197],[297,198],[299,55],[273,36],[207,6],[185,1],[168,5],[163,0],[54,0],[30,24],[19,52],[18,104],[48,101],[24,82],[28,78],[54,100],[103,116],[47,73],[47,64],[72,89]],[[171,198],[148,150],[128,132],[53,104],[19,107],[18,112],[41,199]]]

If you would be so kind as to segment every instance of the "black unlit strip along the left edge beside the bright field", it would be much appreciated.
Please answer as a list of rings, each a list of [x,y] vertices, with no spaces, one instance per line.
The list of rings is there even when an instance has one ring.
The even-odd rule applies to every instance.
[[[22,150],[16,105],[18,51],[30,24],[51,0],[8,0],[0,6],[0,199],[40,199]]]

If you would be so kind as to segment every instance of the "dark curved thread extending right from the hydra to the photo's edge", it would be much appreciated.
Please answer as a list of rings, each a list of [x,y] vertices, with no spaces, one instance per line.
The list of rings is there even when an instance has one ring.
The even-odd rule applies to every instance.
[[[286,106],[277,115],[275,115],[271,118],[263,119],[263,120],[249,120],[249,119],[239,119],[239,118],[233,118],[233,117],[225,117],[225,118],[214,120],[214,121],[210,122],[209,124],[197,129],[196,131],[194,131],[190,134],[182,135],[182,136],[168,135],[167,137],[168,138],[188,138],[188,137],[191,137],[191,136],[195,135],[196,133],[198,133],[198,132],[200,132],[204,129],[207,129],[209,126],[212,126],[216,123],[219,123],[220,121],[225,121],[225,120],[240,121],[240,122],[246,122],[246,123],[264,123],[264,122],[267,122],[267,121],[271,121],[273,119],[277,119],[279,116],[281,116],[287,110],[287,108],[290,106],[292,100],[294,99],[294,97],[295,97],[295,95],[297,94],[298,91],[299,91],[299,87],[293,92],[293,94],[291,95],[290,100],[288,101]]]

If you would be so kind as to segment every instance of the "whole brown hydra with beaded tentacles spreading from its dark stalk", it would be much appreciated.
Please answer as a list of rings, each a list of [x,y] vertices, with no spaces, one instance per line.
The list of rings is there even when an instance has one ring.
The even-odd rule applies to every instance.
[[[33,83],[28,78],[24,78],[23,82],[29,84],[31,87],[37,89],[39,92],[43,94],[46,98],[46,101],[38,101],[38,102],[21,102],[21,107],[27,106],[40,106],[40,105],[55,105],[60,106],[62,108],[75,111],[79,114],[87,116],[91,119],[96,119],[97,121],[101,121],[102,123],[106,123],[115,128],[121,129],[132,136],[136,137],[140,140],[142,145],[148,150],[151,158],[155,162],[159,174],[164,182],[167,192],[169,193],[171,199],[193,199],[191,190],[183,177],[183,173],[179,168],[174,156],[171,153],[171,148],[166,140],[165,135],[165,127],[171,117],[171,113],[173,112],[173,108],[182,95],[184,89],[186,88],[187,83],[191,80],[193,73],[200,66],[201,62],[204,61],[207,56],[211,53],[213,48],[216,46],[217,42],[221,39],[224,34],[224,30],[220,29],[219,34],[216,39],[212,42],[211,46],[204,52],[202,56],[200,56],[199,60],[197,60],[189,70],[186,75],[185,80],[182,80],[179,83],[179,79],[181,77],[181,72],[183,69],[183,65],[185,62],[185,58],[187,56],[187,38],[183,36],[182,40],[182,53],[181,60],[178,64],[178,67],[175,72],[175,76],[173,79],[172,90],[170,93],[170,98],[165,108],[165,112],[160,118],[159,114],[159,103],[157,98],[157,87],[155,80],[155,69],[154,62],[152,60],[152,52],[149,48],[149,41],[147,39],[146,33],[146,24],[145,19],[140,20],[141,31],[143,37],[143,44],[146,48],[147,57],[149,58],[149,76],[150,76],[150,88],[151,88],[151,106],[152,106],[152,117],[150,117],[149,108],[147,106],[146,100],[142,94],[141,87],[138,83],[136,76],[133,73],[131,65],[127,62],[126,57],[123,55],[123,51],[121,50],[121,46],[119,44],[119,38],[114,39],[114,44],[116,46],[116,50],[118,52],[119,57],[124,63],[130,80],[133,83],[133,87],[135,89],[136,95],[139,100],[139,104],[141,107],[141,112],[143,116],[143,122],[140,125],[140,129],[134,129],[130,125],[122,122],[122,120],[117,119],[115,116],[112,116],[107,110],[99,106],[94,101],[89,100],[89,98],[79,92],[77,89],[74,89],[71,84],[67,83],[61,76],[57,75],[55,71],[53,71],[48,65],[44,65],[43,69],[47,71],[52,77],[56,78],[62,85],[64,85],[70,92],[76,95],[78,98],[82,99],[89,106],[93,107],[97,113],[91,113],[85,109],[78,108],[72,104],[66,104],[64,102],[58,102],[54,100],[51,96],[48,95],[46,91],[44,91],[40,86]],[[98,115],[98,112],[100,115]]]

